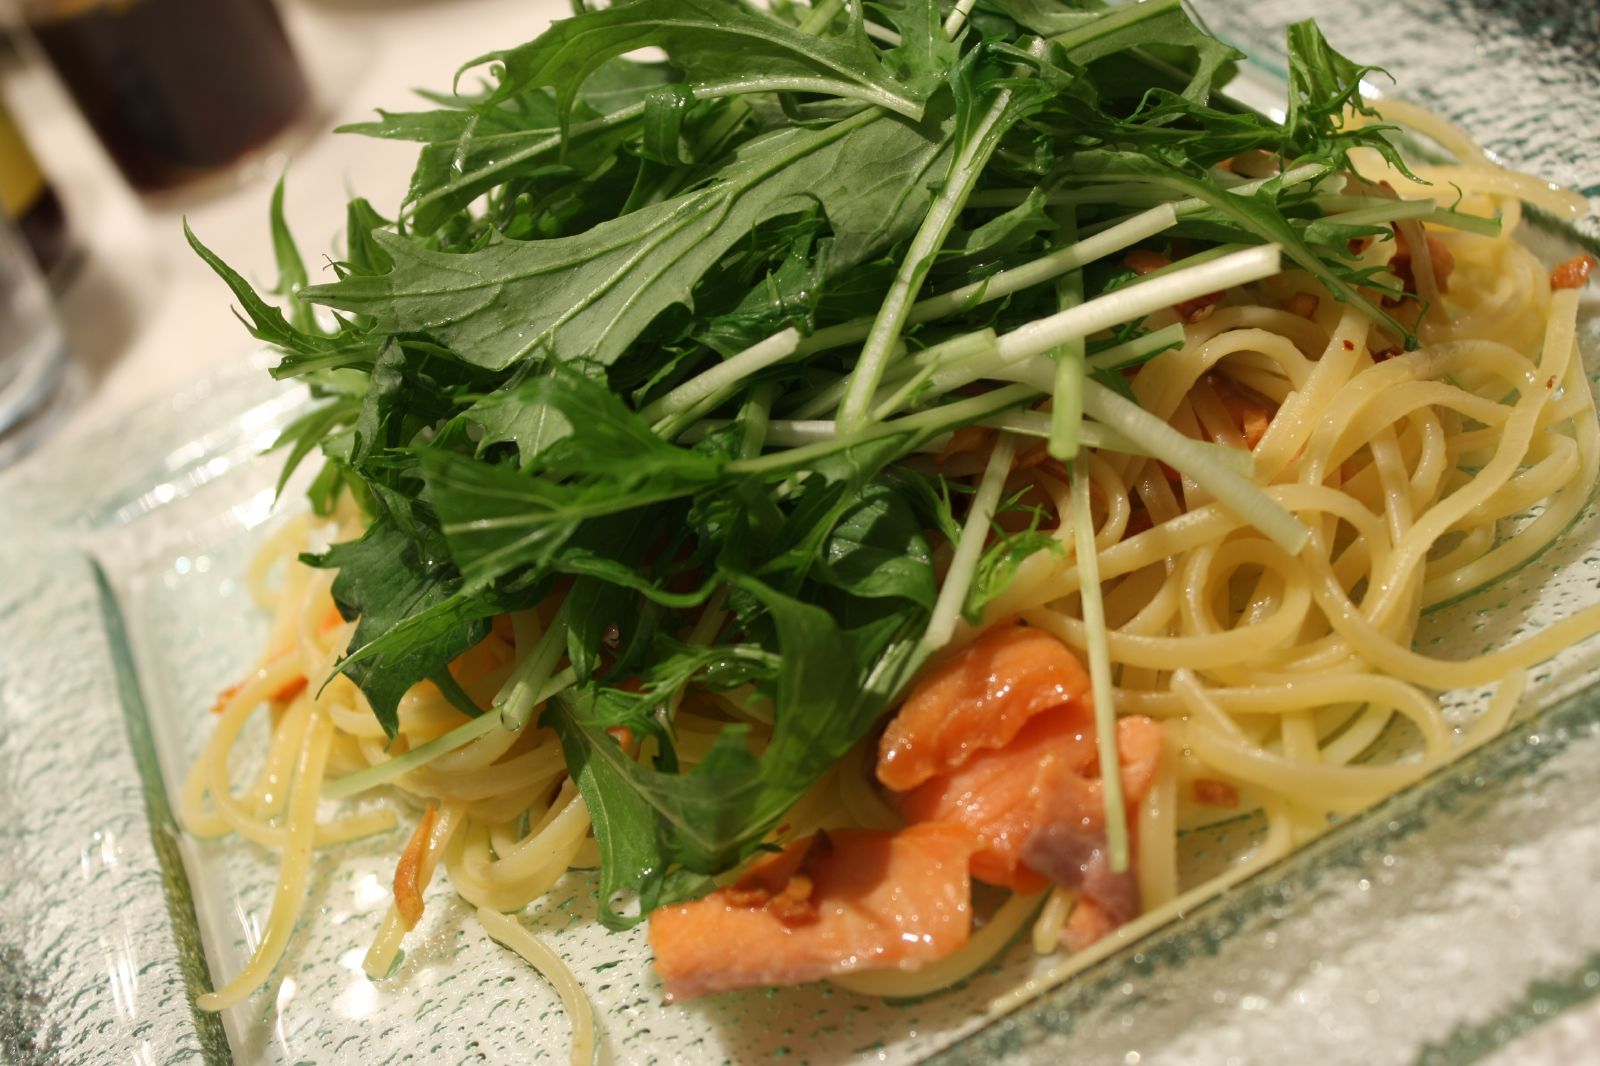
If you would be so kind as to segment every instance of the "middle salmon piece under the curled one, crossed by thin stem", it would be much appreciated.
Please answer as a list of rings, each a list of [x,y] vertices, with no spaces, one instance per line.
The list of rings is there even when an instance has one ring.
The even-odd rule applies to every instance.
[[[1133,808],[1160,768],[1162,727],[1146,717],[1122,719],[1117,751],[1123,799]],[[1026,864],[1029,837],[1050,828],[1101,832],[1101,789],[1094,712],[1074,701],[1034,715],[1005,747],[978,752],[894,799],[907,821],[944,821],[974,834],[973,877],[1038,892],[1050,879]]]

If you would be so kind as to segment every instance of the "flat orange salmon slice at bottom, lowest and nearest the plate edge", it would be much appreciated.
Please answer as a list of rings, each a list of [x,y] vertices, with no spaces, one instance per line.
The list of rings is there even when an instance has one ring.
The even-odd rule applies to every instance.
[[[797,840],[736,885],[650,916],[667,999],[942,959],[971,935],[971,850],[942,824]]]

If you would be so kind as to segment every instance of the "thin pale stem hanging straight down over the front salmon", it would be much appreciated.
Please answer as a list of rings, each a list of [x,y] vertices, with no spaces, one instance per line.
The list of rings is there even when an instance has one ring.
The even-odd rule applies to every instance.
[[[1094,739],[1099,747],[1101,795],[1106,800],[1106,850],[1110,869],[1128,869],[1128,808],[1122,799],[1122,759],[1117,752],[1117,704],[1110,687],[1110,643],[1106,640],[1106,605],[1099,589],[1099,549],[1094,547],[1094,515],[1090,511],[1090,464],[1085,453],[1072,458],[1072,496],[1067,520],[1078,563],[1078,600],[1088,634],[1090,691],[1094,695]]]

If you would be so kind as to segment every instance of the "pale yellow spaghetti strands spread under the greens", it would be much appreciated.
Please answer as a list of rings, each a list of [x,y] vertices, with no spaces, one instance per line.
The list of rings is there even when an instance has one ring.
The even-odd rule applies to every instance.
[[[1357,149],[1352,158],[1368,190],[1397,192],[1395,206],[1435,197],[1459,216],[1499,219],[1498,229],[1474,232],[1426,210],[1397,216],[1414,285],[1405,301],[1411,311],[1427,307],[1413,351],[1400,351],[1390,331],[1315,274],[1250,266],[1259,280],[1198,307],[1179,299],[1146,315],[1149,331],[1176,344],[1126,373],[1138,407],[1170,427],[1163,432],[1187,437],[1184,447],[1200,448],[1206,463],[1243,471],[1275,504],[1270,514],[1282,509],[1306,527],[1304,547],[1286,549],[1261,512],[1238,506],[1214,480],[1174,471],[1123,439],[1115,418],[1102,415],[1109,408],[1093,407],[1114,400],[1093,395],[1085,408],[1096,418],[1083,424],[1083,440],[1094,447],[1070,463],[1050,459],[1038,440],[1050,435],[1048,408],[982,419],[981,429],[934,440],[906,461],[947,483],[971,482],[968,528],[941,559],[949,573],[970,575],[1003,501],[1027,501],[1046,515],[1053,541],[1018,562],[981,623],[944,615],[946,661],[990,627],[1019,619],[1090,663],[1094,683],[1104,685],[1096,704],[1109,695],[1123,723],[1158,723],[1160,760],[1149,787],[1131,794],[1139,911],[1120,928],[1064,951],[1080,893],[1018,890],[949,956],[915,968],[840,972],[837,984],[922,996],[973,973],[1019,936],[1038,954],[1062,954],[1051,972],[1059,980],[1482,744],[1515,715],[1530,667],[1600,631],[1597,605],[1466,661],[1413,648],[1424,611],[1525,565],[1582,512],[1600,475],[1600,424],[1574,339],[1578,291],[1552,288],[1547,267],[1517,242],[1520,202],[1571,213],[1582,210],[1581,200],[1494,166],[1459,131],[1416,109],[1394,104],[1389,117],[1456,162],[1418,168],[1430,182],[1422,184]],[[1086,261],[1090,242],[1098,242],[1093,256],[1118,254],[1174,218],[1166,206],[1134,216],[1086,238],[1078,254]],[[1134,271],[1138,254],[1128,258]],[[1402,272],[1394,242],[1371,240],[1360,256],[1360,266]],[[1082,262],[1061,269],[1075,266]],[[946,299],[949,311],[966,298],[931,303]],[[1027,384],[1043,373],[1037,360],[1005,355],[1010,336],[995,343],[1002,355],[981,375],[992,384]],[[725,365],[774,352],[782,359],[798,339],[778,335],[763,344]],[[984,344],[979,338],[990,352]],[[1141,346],[1155,351],[1134,339],[1096,359],[1110,367],[1133,349],[1130,359],[1149,355]],[[939,379],[955,363],[938,362],[936,352],[923,357],[920,381],[970,384]],[[803,445],[806,411],[795,413],[784,432]],[[443,868],[450,890],[475,908],[488,935],[557,986],[573,1016],[574,1060],[587,1061],[594,1021],[581,989],[547,948],[504,917],[570,869],[600,863],[562,743],[538,725],[544,701],[574,683],[571,667],[558,669],[562,597],[501,615],[451,664],[453,685],[480,709],[477,717],[453,693],[422,682],[400,701],[390,739],[362,688],[338,671],[354,651],[355,623],[334,603],[333,573],[294,560],[360,533],[362,514],[346,495],[326,528],[309,519],[285,523],[251,570],[251,589],[274,619],[267,650],[219,699],[181,816],[195,836],[237,834],[277,852],[280,879],[250,964],[202,1005],[238,1004],[269,978],[301,917],[318,847],[390,831],[421,812],[365,972],[381,980],[395,968]],[[688,647],[710,642],[725,624],[726,595],[723,589],[698,608]],[[549,680],[533,691],[530,677]],[[1453,725],[1435,693],[1478,685],[1494,687],[1485,711]],[[520,711],[493,711],[510,704]],[[235,747],[262,709],[270,743],[254,779],[238,781]],[[666,715],[683,765],[709,759],[731,725],[749,727],[755,749],[774,735],[773,707],[750,687],[680,687]],[[1101,719],[1099,751],[1120,743],[1118,728]],[[651,738],[613,735],[635,762],[656,754]],[[874,779],[872,754],[872,738],[858,744],[770,842],[901,826],[901,800]],[[1096,783],[1107,810],[1122,807],[1126,775]],[[318,816],[322,800],[378,791],[381,804]],[[1202,861],[1194,840],[1221,824],[1250,831],[1229,837],[1238,844],[1226,861]],[[1107,847],[1115,848],[1110,837]],[[730,882],[723,876],[718,884]]]

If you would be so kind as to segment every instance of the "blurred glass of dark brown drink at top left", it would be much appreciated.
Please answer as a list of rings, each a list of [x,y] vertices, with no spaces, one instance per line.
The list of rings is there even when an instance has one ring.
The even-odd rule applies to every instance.
[[[29,26],[142,190],[234,163],[310,91],[272,0],[30,0]]]

